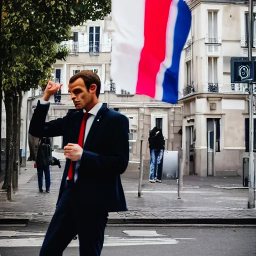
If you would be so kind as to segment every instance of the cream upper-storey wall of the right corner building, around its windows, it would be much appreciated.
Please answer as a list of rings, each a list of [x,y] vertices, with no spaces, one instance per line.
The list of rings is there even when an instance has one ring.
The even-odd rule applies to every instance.
[[[217,10],[217,31],[220,45],[215,45],[214,51],[205,42],[208,37],[208,10]],[[230,84],[230,57],[247,56],[247,49],[244,45],[245,24],[244,14],[248,7],[243,5],[215,4],[200,2],[192,8],[191,32],[188,39],[193,38],[192,56],[185,58],[183,50],[180,59],[179,91],[182,92],[186,85],[185,62],[192,61],[191,81],[193,81],[197,92],[207,91],[208,83],[208,56],[217,57],[217,78],[220,92],[244,92],[244,86],[235,85],[235,90],[231,90]],[[254,7],[254,11],[256,8]],[[254,39],[256,44],[256,39]],[[256,56],[256,50],[253,50]],[[181,95],[182,96],[182,95]]]

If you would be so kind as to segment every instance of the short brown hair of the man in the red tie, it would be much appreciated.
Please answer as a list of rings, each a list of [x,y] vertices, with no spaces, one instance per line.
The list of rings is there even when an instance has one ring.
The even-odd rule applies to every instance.
[[[98,75],[96,73],[94,73],[91,70],[82,70],[76,74],[74,74],[70,79],[69,79],[69,83],[73,83],[76,79],[78,78],[82,78],[83,82],[87,88],[87,90],[89,91],[90,85],[92,83],[97,85],[97,89],[96,89],[96,96],[98,97],[99,92],[100,92],[100,79],[98,77]]]

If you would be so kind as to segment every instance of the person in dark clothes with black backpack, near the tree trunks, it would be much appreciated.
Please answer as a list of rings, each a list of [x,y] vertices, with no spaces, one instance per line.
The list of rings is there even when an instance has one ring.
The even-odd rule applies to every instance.
[[[48,152],[47,149],[50,151]],[[37,149],[37,155],[36,155],[37,179],[38,179],[38,187],[39,187],[40,192],[43,192],[43,190],[42,190],[43,173],[44,173],[44,178],[45,178],[45,191],[47,193],[50,192],[50,167],[49,167],[49,165],[50,165],[49,155],[50,154],[51,154],[51,148],[50,148],[49,138],[40,138],[39,146]]]

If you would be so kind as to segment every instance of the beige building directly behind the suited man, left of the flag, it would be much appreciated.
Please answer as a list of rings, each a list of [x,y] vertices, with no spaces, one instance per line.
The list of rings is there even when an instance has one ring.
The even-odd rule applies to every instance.
[[[172,105],[152,100],[143,95],[133,95],[128,91],[117,89],[110,79],[111,64],[111,18],[88,21],[85,24],[72,27],[73,39],[64,41],[70,52],[65,61],[56,61],[54,64],[53,79],[60,82],[61,97],[52,97],[47,119],[53,120],[64,116],[73,103],[68,94],[69,78],[83,69],[96,72],[101,80],[99,100],[126,115],[129,119],[129,145],[130,163],[126,175],[138,177],[138,162],[140,145],[144,155],[144,178],[148,176],[149,149],[148,134],[154,126],[162,128],[165,138],[166,150],[179,150],[181,148],[182,105]],[[121,86],[118,86],[121,88]],[[60,95],[58,95],[60,96]],[[27,127],[32,115],[32,108],[42,97],[40,88],[30,90],[26,94],[27,101]],[[25,103],[25,100],[24,100]],[[25,135],[25,134],[23,134]],[[26,139],[26,141],[28,141]],[[52,147],[56,151],[62,148],[62,137],[52,139]],[[26,145],[28,149],[28,144]]]

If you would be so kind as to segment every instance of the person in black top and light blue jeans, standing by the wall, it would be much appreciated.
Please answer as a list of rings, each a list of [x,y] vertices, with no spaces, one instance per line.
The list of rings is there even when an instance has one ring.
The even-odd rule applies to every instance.
[[[150,150],[149,182],[161,183],[161,162],[164,150],[164,137],[161,129],[154,127],[151,131],[149,131],[148,145]]]

